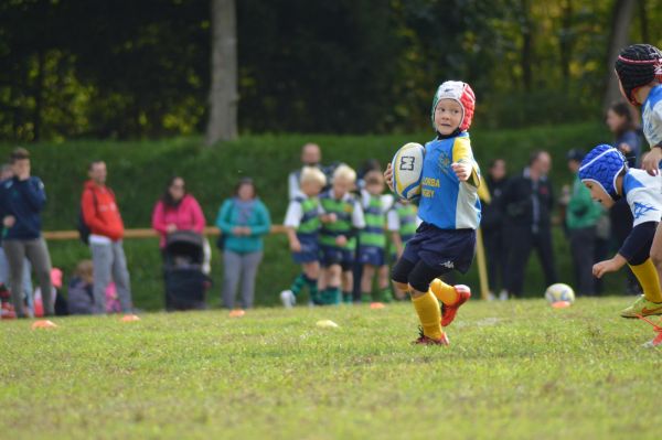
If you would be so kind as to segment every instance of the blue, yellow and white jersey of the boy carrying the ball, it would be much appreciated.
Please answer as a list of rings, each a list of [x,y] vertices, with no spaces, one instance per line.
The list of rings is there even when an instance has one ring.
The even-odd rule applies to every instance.
[[[460,182],[452,163],[470,163],[473,171]],[[440,229],[477,229],[480,224],[480,169],[468,132],[426,143],[418,216]]]

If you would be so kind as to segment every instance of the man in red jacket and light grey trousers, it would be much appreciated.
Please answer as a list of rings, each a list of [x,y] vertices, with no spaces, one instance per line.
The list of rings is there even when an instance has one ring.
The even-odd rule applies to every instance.
[[[113,190],[106,186],[106,163],[94,161],[87,170],[81,201],[83,219],[89,228],[89,249],[94,265],[94,313],[106,313],[106,287],[117,286],[121,311],[132,311],[127,259],[122,247],[124,223]]]

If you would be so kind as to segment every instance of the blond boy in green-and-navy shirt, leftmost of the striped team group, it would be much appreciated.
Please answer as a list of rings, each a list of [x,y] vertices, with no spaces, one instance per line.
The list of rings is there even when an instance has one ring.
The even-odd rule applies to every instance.
[[[289,290],[280,292],[280,301],[286,308],[297,302],[305,286],[310,291],[310,301],[319,304],[318,278],[320,276],[318,233],[320,230],[320,202],[318,194],[327,184],[324,173],[312,167],[306,167],[299,179],[300,190],[295,193],[285,215],[284,226],[295,262],[301,265],[301,273]]]

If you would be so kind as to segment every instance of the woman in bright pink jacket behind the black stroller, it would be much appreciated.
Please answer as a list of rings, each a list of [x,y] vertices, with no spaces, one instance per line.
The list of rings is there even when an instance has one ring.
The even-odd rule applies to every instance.
[[[152,227],[161,236],[160,247],[166,246],[166,236],[175,230],[193,230],[202,234],[205,219],[200,204],[186,193],[184,180],[174,176],[152,213]]]

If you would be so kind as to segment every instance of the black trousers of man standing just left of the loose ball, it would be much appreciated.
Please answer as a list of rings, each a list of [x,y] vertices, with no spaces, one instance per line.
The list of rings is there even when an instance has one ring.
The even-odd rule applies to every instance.
[[[511,226],[509,228],[510,258],[508,265],[509,292],[521,296],[524,287],[524,275],[531,250],[535,248],[546,286],[556,282],[554,249],[552,248],[552,230],[546,227],[533,233],[531,226]]]

